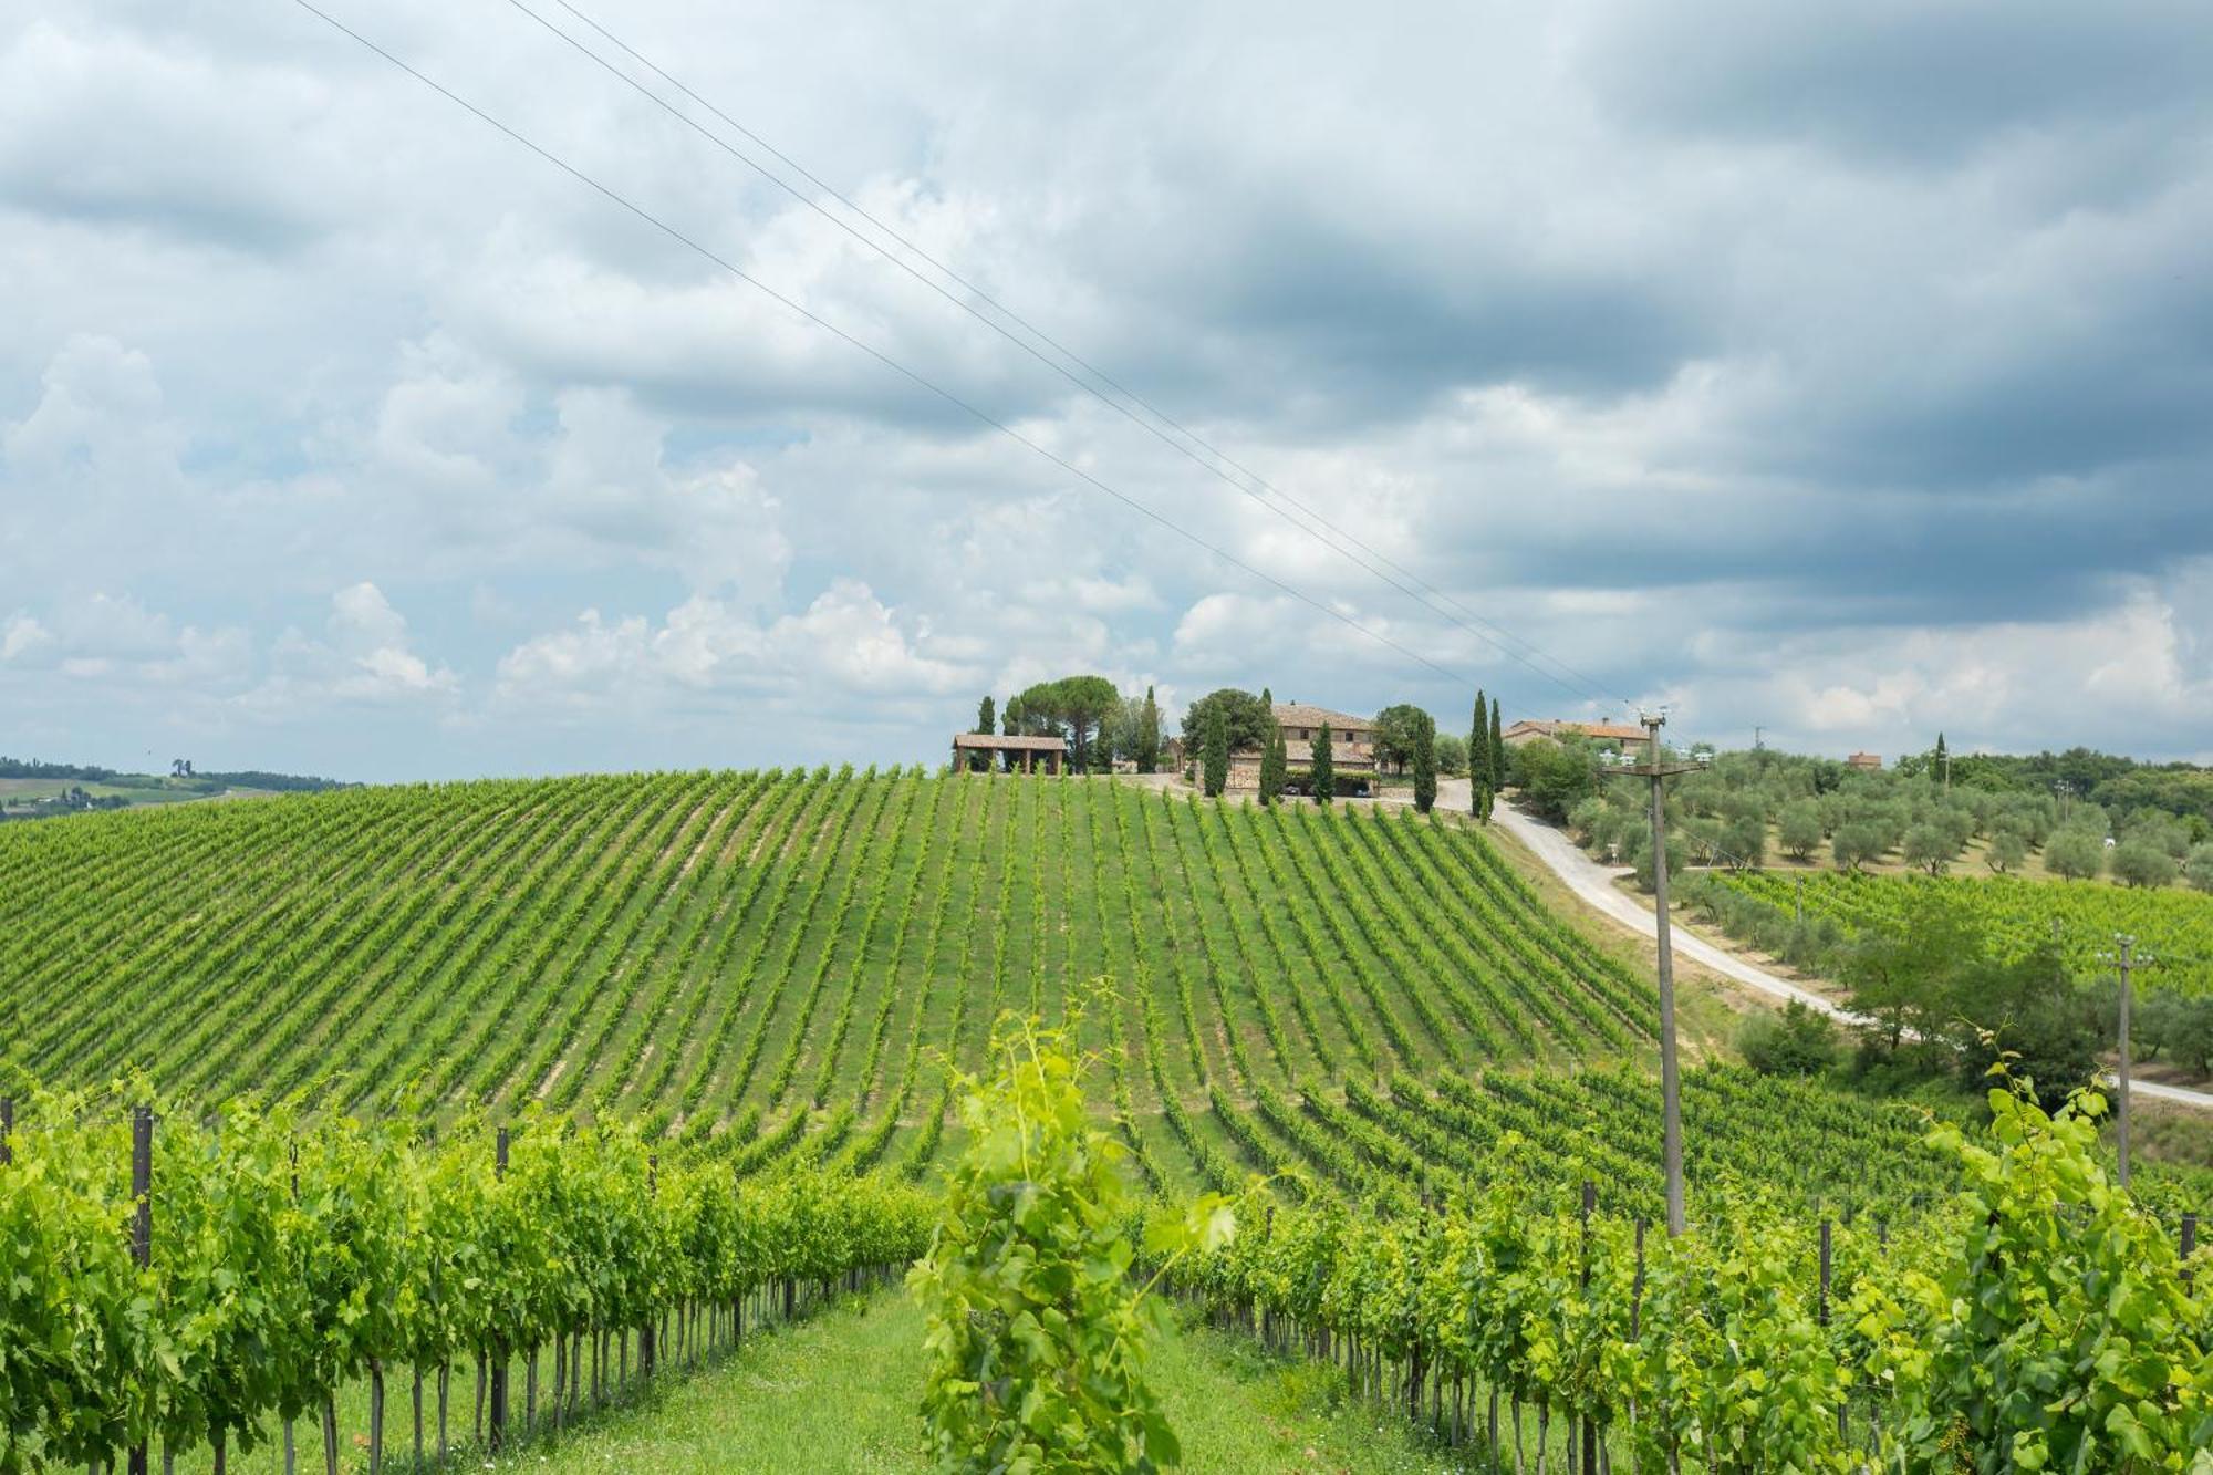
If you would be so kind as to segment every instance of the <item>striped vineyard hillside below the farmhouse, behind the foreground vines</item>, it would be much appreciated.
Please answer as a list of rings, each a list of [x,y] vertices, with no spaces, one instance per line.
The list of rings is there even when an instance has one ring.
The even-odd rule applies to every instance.
[[[1651,983],[1405,811],[768,771],[95,815],[0,833],[0,977],[15,1092],[536,1103],[923,1174],[1016,1010],[1078,1019],[1155,1187],[1419,1185],[1505,1130],[1658,1187]],[[1835,1125],[1812,1192],[1910,1183],[1908,1118],[1726,1070],[1702,1149],[1773,1154],[1779,1090]]]

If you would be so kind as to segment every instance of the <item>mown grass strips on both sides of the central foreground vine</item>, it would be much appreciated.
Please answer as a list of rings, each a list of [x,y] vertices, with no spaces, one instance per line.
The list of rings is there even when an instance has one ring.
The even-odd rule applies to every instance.
[[[1171,1338],[1157,1355],[1157,1386],[1186,1471],[1465,1468],[1423,1448],[1396,1420],[1346,1404],[1330,1369],[1266,1358],[1241,1338],[1204,1329]],[[927,1471],[921,1395],[923,1316],[905,1296],[887,1293],[752,1338],[713,1371],[664,1384],[560,1444],[485,1468]]]

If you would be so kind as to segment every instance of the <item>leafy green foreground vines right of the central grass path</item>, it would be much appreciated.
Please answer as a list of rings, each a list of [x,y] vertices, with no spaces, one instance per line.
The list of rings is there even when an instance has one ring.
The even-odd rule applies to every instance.
[[[2206,1302],[2171,1234],[2105,1178],[2087,1116],[2009,1092],[1992,1110],[1983,1134],[1928,1136],[1963,1172],[1947,1203],[1888,1236],[1832,1225],[1826,1309],[1801,1211],[1708,1187],[1689,1234],[1642,1240],[1604,1211],[1604,1178],[1585,1229],[1565,1194],[1516,1176],[1516,1132],[1469,1167],[1465,1198],[1425,1214],[1315,1198],[1173,1280],[1226,1320],[1330,1333],[1383,1397],[1399,1382],[1405,1400],[1399,1369],[1465,1378],[1509,1404],[1503,1440],[1518,1446],[1529,1406],[1540,1446],[1551,1420],[1593,1420],[1615,1462],[1653,1475],[2202,1471]]]

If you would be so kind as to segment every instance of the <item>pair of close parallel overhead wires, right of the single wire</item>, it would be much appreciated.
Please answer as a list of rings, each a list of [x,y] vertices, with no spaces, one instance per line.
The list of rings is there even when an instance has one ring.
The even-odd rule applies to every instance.
[[[560,4],[564,11],[569,11],[571,16],[575,16],[582,24],[591,27],[593,31],[598,31],[609,44],[613,44],[617,51],[622,51],[624,55],[628,55],[631,60],[635,60],[640,66],[644,66],[646,71],[651,71],[653,75],[657,75],[662,82],[666,82],[668,86],[677,89],[682,95],[686,95],[693,102],[697,102],[702,109],[706,109],[717,120],[721,120],[724,124],[728,124],[741,137],[750,140],[761,151],[766,151],[768,155],[772,155],[777,162],[781,162],[783,166],[788,166],[790,171],[794,171],[801,179],[806,179],[808,184],[812,184],[814,188],[819,188],[823,195],[828,195],[830,199],[837,199],[841,206],[845,206],[848,210],[852,210],[856,217],[865,219],[870,226],[874,226],[876,230],[881,230],[885,237],[890,237],[892,241],[896,241],[901,248],[905,248],[907,252],[912,252],[916,259],[921,259],[921,261],[929,264],[934,270],[943,272],[949,281],[954,281],[956,286],[960,286],[976,301],[989,306],[1000,317],[1005,317],[1011,323],[1020,326],[1027,334],[1031,334],[1033,339],[1038,339],[1040,343],[1045,343],[1047,348],[1051,348],[1053,352],[1058,352],[1069,363],[1078,365],[1091,379],[1098,379],[1100,383],[1104,383],[1109,390],[1113,390],[1113,394],[1120,394],[1129,403],[1122,403],[1113,394],[1102,392],[1098,385],[1089,383],[1078,372],[1069,370],[1064,363],[1058,363],[1056,359],[1051,359],[1045,352],[1040,352],[1033,343],[1029,343],[1029,341],[1016,337],[1014,332],[1009,332],[1002,323],[998,323],[991,317],[978,312],[972,301],[965,301],[963,297],[958,297],[954,292],[947,292],[938,281],[932,281],[929,277],[925,277],[923,272],[918,272],[910,261],[905,261],[898,255],[894,255],[892,250],[887,250],[881,241],[870,239],[867,235],[863,235],[861,230],[856,230],[850,221],[845,221],[845,219],[832,215],[830,210],[825,210],[821,206],[821,202],[817,202],[814,197],[810,197],[803,190],[794,188],[790,182],[786,182],[783,177],[779,177],[772,168],[768,168],[759,159],[750,157],[746,151],[737,148],[735,144],[730,144],[728,140],[724,140],[721,135],[717,135],[715,131],[710,131],[708,126],[704,126],[699,120],[690,117],[688,113],[684,113],[682,109],[677,109],[675,104],[671,104],[666,97],[662,97],[659,93],[655,93],[653,89],[648,89],[644,82],[640,82],[637,78],[633,78],[624,69],[620,69],[613,62],[609,62],[604,55],[600,55],[598,51],[593,51],[591,47],[586,47],[584,42],[580,42],[569,31],[564,31],[558,24],[553,24],[551,20],[547,20],[540,11],[531,9],[529,4],[522,4],[522,0],[507,0],[507,2],[516,11],[520,11],[522,16],[529,16],[540,27],[544,27],[551,35],[555,35],[562,42],[567,42],[580,55],[584,55],[586,60],[591,60],[593,64],[598,64],[600,69],[604,69],[609,75],[613,75],[622,84],[631,86],[642,97],[646,97],[648,102],[653,102],[657,109],[662,109],[664,113],[668,113],[671,117],[675,117],[677,122],[682,122],[686,128],[693,128],[704,140],[708,140],[710,144],[715,144],[717,148],[721,148],[730,157],[739,159],[741,164],[746,164],[748,168],[752,168],[755,173],[759,173],[770,184],[775,184],[779,190],[783,190],[786,195],[790,195],[792,199],[797,199],[799,204],[803,204],[806,208],[814,210],[825,221],[830,221],[832,226],[837,226],[839,230],[843,230],[845,235],[850,235],[854,241],[859,241],[861,246],[874,250],[879,257],[883,257],[885,261],[890,261],[898,270],[907,272],[914,281],[923,283],[925,288],[929,288],[932,292],[936,292],[938,297],[943,297],[954,308],[967,312],[978,323],[983,323],[991,332],[1000,334],[1002,339],[1007,339],[1009,343],[1014,343],[1016,348],[1020,348],[1022,352],[1027,352],[1031,359],[1036,359],[1045,368],[1049,368],[1056,374],[1060,374],[1062,379],[1067,379],[1071,385],[1076,385],[1084,394],[1098,399],[1102,405],[1106,405],[1115,414],[1122,414],[1133,425],[1137,425],[1140,430],[1144,430],[1146,434],[1151,434],[1153,439],[1157,439],[1162,445],[1168,445],[1171,450],[1175,450],[1177,454],[1182,454],[1184,458],[1188,458],[1199,470],[1217,476],[1224,485],[1228,485],[1230,489],[1235,489],[1241,496],[1250,498],[1255,505],[1266,507],[1270,514],[1275,514],[1277,518],[1281,518],[1290,527],[1303,532],[1308,538],[1315,538],[1317,543],[1321,543],[1323,547],[1328,547],[1332,554],[1339,554],[1341,558],[1354,563],[1357,567],[1365,569],[1374,578],[1379,578],[1379,580],[1388,582],[1390,587],[1399,589],[1407,598],[1412,598],[1419,605],[1423,605],[1423,609],[1427,609],[1432,613],[1441,613],[1452,625],[1458,625],[1467,633],[1472,633],[1478,640],[1483,640],[1489,647],[1494,647],[1498,653],[1503,653],[1509,660],[1523,664],[1525,669],[1534,671],[1536,675],[1554,682],[1556,687],[1569,691],[1571,695],[1582,698],[1582,700],[1596,700],[1596,702],[1607,702],[1609,700],[1607,693],[1604,693],[1604,689],[1602,689],[1602,684],[1598,680],[1593,680],[1593,678],[1576,671],[1565,660],[1560,660],[1560,658],[1542,651],[1536,642],[1525,640],[1523,636],[1516,636],[1514,631],[1509,631],[1507,627],[1498,625],[1496,620],[1489,620],[1489,618],[1476,613],[1474,609],[1469,609],[1467,605],[1463,605],[1454,596],[1436,589],[1434,585],[1430,585],[1421,576],[1416,576],[1410,569],[1401,567],[1399,563],[1394,563],[1392,558],[1388,558],[1379,549],[1374,549],[1368,543],[1363,543],[1359,536],[1354,536],[1354,534],[1346,532],[1343,527],[1334,525],[1321,512],[1315,512],[1312,507],[1308,507],[1299,498],[1290,496],[1281,487],[1275,487],[1259,472],[1253,472],[1250,467],[1241,465],[1239,461],[1235,461],[1233,456],[1228,456],[1226,452],[1222,452],[1219,447],[1215,447],[1213,443],[1208,443],[1204,436],[1199,436],[1195,430],[1191,430],[1191,427],[1182,425],[1180,421],[1175,421],[1171,414],[1166,414],[1164,410],[1160,410],[1157,405],[1153,405],[1151,401],[1146,401],[1142,394],[1137,394],[1135,390],[1131,390],[1124,383],[1120,383],[1118,379],[1113,379],[1106,370],[1098,368],[1095,363],[1091,363],[1089,359],[1084,359],[1082,354],[1078,354],[1069,345],[1064,345],[1058,339],[1053,339],[1049,332],[1045,332],[1042,328],[1038,328],[1036,323],[1031,323],[1029,319],[1025,319],[1014,308],[1009,308],[1009,306],[1000,303],[998,299],[994,299],[980,286],[976,286],[974,281],[969,281],[960,272],[956,272],[952,266],[938,261],[927,250],[923,250],[921,246],[916,246],[912,239],[907,239],[905,235],[901,235],[894,226],[885,224],[883,219],[879,219],[876,215],[872,215],[867,208],[863,208],[854,199],[850,199],[843,193],[839,193],[834,186],[830,186],[819,175],[814,175],[810,168],[806,168],[801,162],[792,159],[788,153],[783,153],[781,148],[777,148],[775,144],[770,144],[768,140],[763,140],[759,133],[755,133],[746,124],[741,124],[735,117],[730,117],[726,111],[721,111],[719,106],[715,106],[710,100],[702,97],[686,82],[682,82],[679,78],[675,78],[673,73],[668,73],[664,66],[659,66],[657,62],[653,62],[651,58],[646,58],[642,51],[637,51],[635,47],[631,47],[626,40],[622,40],[620,35],[615,35],[613,31],[609,31],[604,24],[600,24],[598,20],[593,20],[591,16],[586,16],[582,9],[578,9],[569,0],[555,0],[555,4]],[[1140,410],[1144,410],[1151,416],[1151,421],[1144,414],[1137,414],[1135,410],[1131,410],[1131,405],[1137,405]],[[1160,421],[1160,425],[1155,425],[1153,421]],[[1166,425],[1175,434],[1173,436],[1166,434],[1162,430],[1162,425]],[[1175,439],[1175,436],[1182,436],[1182,439]],[[1184,441],[1188,441],[1191,445],[1186,445]],[[1323,536],[1321,532],[1317,532],[1315,525],[1299,520],[1297,516],[1292,516],[1290,512],[1286,512],[1277,503],[1268,501],[1266,496],[1261,496],[1253,487],[1239,483],[1228,472],[1224,472],[1222,465],[1208,463],[1204,456],[1199,456],[1193,450],[1193,445],[1197,445],[1208,456],[1213,456],[1222,465],[1226,465],[1233,472],[1237,472],[1237,476],[1244,476],[1246,481],[1250,481],[1253,487],[1259,487],[1261,492],[1266,492],[1268,496],[1272,496],[1272,498],[1277,498],[1281,503],[1288,503],[1303,518],[1310,518],[1315,525],[1328,529],[1328,534],[1332,534],[1337,540],[1332,540],[1332,536]],[[1350,547],[1346,547],[1346,545],[1350,545]],[[1359,554],[1354,554],[1352,549],[1359,549]],[[1365,554],[1365,558],[1361,554]],[[1458,613],[1454,613],[1454,611],[1458,611]],[[1461,618],[1461,616],[1467,616],[1467,618]],[[1476,629],[1476,625],[1480,625],[1485,629]],[[1516,651],[1514,649],[1516,644],[1523,647],[1523,651],[1527,651],[1527,656],[1523,651]],[[1545,667],[1536,664],[1536,660],[1531,660],[1529,656],[1536,656],[1536,658],[1549,662],[1551,667],[1556,667],[1558,671],[1565,671],[1567,678],[1571,678],[1571,680],[1565,680],[1556,671],[1547,671]],[[1618,704],[1627,706],[1624,698],[1613,698],[1613,700]]]

